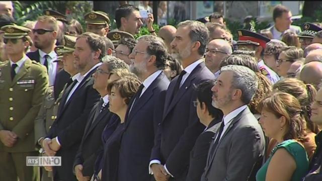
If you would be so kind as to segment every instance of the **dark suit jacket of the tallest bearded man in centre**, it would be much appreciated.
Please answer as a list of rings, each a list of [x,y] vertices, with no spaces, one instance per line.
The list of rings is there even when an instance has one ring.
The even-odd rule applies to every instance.
[[[178,76],[169,85],[163,120],[158,127],[159,132],[150,159],[166,163],[169,172],[178,180],[185,180],[190,151],[205,128],[199,122],[193,106],[193,101],[196,100],[194,85],[214,78],[214,74],[202,62],[189,74],[174,97]]]

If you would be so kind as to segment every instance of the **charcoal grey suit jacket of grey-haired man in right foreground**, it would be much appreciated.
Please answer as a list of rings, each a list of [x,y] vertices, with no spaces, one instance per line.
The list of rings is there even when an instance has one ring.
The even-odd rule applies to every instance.
[[[213,144],[212,142],[209,150]],[[262,166],[264,152],[264,133],[247,107],[233,118],[220,138],[214,154],[208,153],[201,180],[255,181],[256,173]]]

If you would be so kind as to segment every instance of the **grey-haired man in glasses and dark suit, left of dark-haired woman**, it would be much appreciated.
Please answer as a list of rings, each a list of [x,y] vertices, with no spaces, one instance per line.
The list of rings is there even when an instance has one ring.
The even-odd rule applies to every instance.
[[[98,155],[97,150],[103,148],[101,136],[105,126],[115,129],[118,125],[115,119],[111,119],[115,114],[109,111],[107,80],[112,70],[116,68],[128,69],[128,65],[114,56],[105,56],[102,61],[102,65],[93,74],[93,87],[100,93],[101,101],[91,110],[81,146],[77,150],[73,163],[73,169],[78,180],[83,180],[83,177],[90,178],[93,175],[94,163]]]

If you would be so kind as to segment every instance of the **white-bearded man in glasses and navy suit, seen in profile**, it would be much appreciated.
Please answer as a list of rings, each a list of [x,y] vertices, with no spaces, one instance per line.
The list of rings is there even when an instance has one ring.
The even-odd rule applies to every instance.
[[[121,140],[118,180],[149,180],[147,165],[158,123],[162,119],[166,91],[170,83],[162,69],[168,52],[163,40],[146,35],[138,39],[129,58],[130,70],[142,80],[127,110]],[[140,164],[138,164],[140,163]]]

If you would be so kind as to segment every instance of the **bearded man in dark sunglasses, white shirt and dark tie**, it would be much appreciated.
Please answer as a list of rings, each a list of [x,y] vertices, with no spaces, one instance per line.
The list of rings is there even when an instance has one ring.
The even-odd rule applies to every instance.
[[[54,51],[58,35],[57,20],[52,16],[40,16],[32,31],[34,34],[33,42],[38,50],[27,53],[27,56],[46,66],[49,85],[54,85],[54,98],[57,99],[64,84],[70,77],[64,70],[57,72],[58,67],[57,62],[55,62],[57,60],[57,54]],[[59,81],[55,81],[56,78]]]

